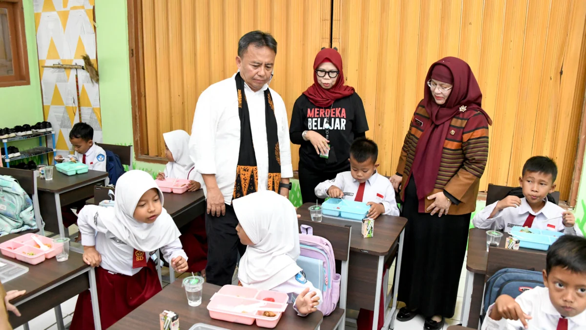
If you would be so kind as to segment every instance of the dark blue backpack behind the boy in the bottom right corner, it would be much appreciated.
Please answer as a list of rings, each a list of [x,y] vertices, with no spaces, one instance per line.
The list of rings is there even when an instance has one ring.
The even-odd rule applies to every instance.
[[[517,298],[523,292],[535,287],[544,287],[543,274],[540,271],[503,268],[495,272],[495,275],[486,282],[482,315],[486,315],[486,311],[495,303],[499,295],[506,294]]]

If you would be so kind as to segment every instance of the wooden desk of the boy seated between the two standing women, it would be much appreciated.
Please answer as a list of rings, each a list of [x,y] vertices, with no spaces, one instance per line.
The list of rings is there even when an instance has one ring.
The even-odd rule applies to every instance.
[[[301,215],[303,220],[311,221],[308,208],[313,203],[303,204],[297,209],[297,214]],[[374,221],[374,237],[362,237],[362,222],[352,220],[340,220],[327,216],[322,217],[322,222],[337,225],[352,226],[350,237],[350,257],[348,262],[349,279],[347,288],[347,304],[349,309],[359,310],[360,308],[374,311],[374,319],[379,317],[379,303],[381,297],[381,283],[383,281],[383,266],[389,258],[394,258],[398,251],[395,284],[391,294],[397,297],[399,274],[401,270],[401,257],[403,254],[404,228],[407,219],[402,217],[393,217],[390,215],[380,215]],[[384,326],[393,325],[394,313],[397,307],[397,299],[393,299],[393,307],[386,315]],[[373,322],[373,329],[376,328],[376,322]]]

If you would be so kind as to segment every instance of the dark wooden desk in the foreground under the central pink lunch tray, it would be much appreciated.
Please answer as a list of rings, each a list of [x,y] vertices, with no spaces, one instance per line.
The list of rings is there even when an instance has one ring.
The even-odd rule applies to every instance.
[[[124,316],[124,318],[108,329],[159,330],[161,328],[159,326],[159,313],[161,313],[163,309],[179,314],[179,326],[181,329],[189,329],[192,325],[197,323],[204,323],[234,330],[263,329],[258,328],[256,324],[243,325],[210,318],[210,314],[207,311],[207,304],[212,295],[219,289],[220,287],[217,285],[203,284],[202,304],[197,307],[190,307],[187,303],[185,289],[183,289],[181,283],[177,281],[173,284],[169,284],[163,291],[159,292],[151,299],[148,299],[147,302],[130,312],[130,314]],[[314,330],[322,323],[322,319],[323,314],[320,311],[313,312],[306,317],[298,316],[292,305],[289,304],[275,329]]]

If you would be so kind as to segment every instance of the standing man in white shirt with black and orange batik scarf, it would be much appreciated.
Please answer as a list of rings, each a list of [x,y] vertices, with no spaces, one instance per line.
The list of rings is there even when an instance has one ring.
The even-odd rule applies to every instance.
[[[268,87],[277,42],[268,33],[240,38],[239,72],[203,91],[193,117],[189,154],[202,174],[207,199],[207,282],[230,284],[237,252],[234,198],[260,190],[288,197],[293,176],[287,110]]]

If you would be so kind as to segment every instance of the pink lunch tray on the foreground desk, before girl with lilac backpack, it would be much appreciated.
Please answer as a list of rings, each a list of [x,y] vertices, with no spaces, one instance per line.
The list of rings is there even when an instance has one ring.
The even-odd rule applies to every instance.
[[[239,305],[251,305],[263,302],[264,298],[275,299],[275,302],[266,302],[265,307],[281,308],[283,311],[287,308],[289,295],[282,292],[263,291],[254,288],[244,288],[237,285],[224,285],[220,291],[213,295],[207,310],[210,317],[222,321],[252,325],[254,321],[261,328],[274,328],[281,319],[282,312],[274,312],[276,316],[263,316],[263,307],[256,314],[246,314],[234,310]]]

